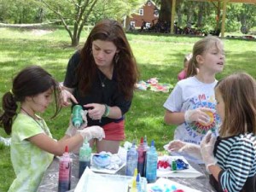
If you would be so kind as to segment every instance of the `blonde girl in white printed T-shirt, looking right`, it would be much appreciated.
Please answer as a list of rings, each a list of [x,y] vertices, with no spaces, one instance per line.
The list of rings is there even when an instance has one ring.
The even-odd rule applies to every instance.
[[[222,72],[223,68],[224,45],[220,39],[209,36],[195,43],[189,61],[189,77],[177,82],[164,103],[166,124],[177,125],[175,140],[200,144],[208,130],[217,134],[219,117],[214,111],[215,74]],[[177,155],[201,163],[186,151],[179,151]]]

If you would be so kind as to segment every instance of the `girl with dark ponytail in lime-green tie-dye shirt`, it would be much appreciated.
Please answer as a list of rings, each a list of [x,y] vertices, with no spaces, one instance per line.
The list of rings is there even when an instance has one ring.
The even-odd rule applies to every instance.
[[[3,95],[3,114],[0,125],[7,134],[11,133],[10,154],[16,178],[11,191],[37,191],[38,185],[53,160],[62,155],[65,146],[73,150],[84,137],[102,138],[104,131],[99,126],[72,131],[73,137],[65,136],[60,141],[52,138],[44,119],[36,113],[44,113],[55,96],[55,115],[59,112],[58,83],[42,67],[26,67],[17,74],[13,88]],[[20,112],[17,109],[20,106]]]

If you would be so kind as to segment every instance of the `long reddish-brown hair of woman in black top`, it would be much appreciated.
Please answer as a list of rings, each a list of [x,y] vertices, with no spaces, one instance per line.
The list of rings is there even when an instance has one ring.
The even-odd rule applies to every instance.
[[[138,79],[137,62],[125,37],[125,32],[116,20],[102,20],[97,23],[90,32],[83,49],[80,50],[81,61],[78,67],[79,90],[81,93],[86,93],[90,90],[90,84],[96,78],[96,63],[91,53],[92,42],[95,40],[113,42],[119,49],[118,55],[113,58],[113,67],[117,73],[119,90],[126,99],[131,99],[134,85]]]

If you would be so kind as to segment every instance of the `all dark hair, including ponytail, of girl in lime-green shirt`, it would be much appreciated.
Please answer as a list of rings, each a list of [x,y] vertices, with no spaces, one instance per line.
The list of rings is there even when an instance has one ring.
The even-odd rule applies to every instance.
[[[7,134],[11,133],[13,120],[17,115],[18,102],[24,102],[26,96],[37,96],[46,90],[53,89],[55,95],[55,114],[61,110],[59,98],[59,84],[42,67],[30,66],[24,68],[13,80],[13,87],[2,98],[3,113],[0,125]],[[53,118],[52,117],[52,118]]]

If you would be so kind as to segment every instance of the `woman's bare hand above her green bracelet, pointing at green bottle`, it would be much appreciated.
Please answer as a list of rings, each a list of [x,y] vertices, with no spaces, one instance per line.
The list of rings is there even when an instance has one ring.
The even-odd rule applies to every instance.
[[[103,104],[98,103],[90,103],[87,105],[84,105],[84,108],[88,109],[88,115],[90,119],[102,119],[102,115],[105,113],[106,107]]]

